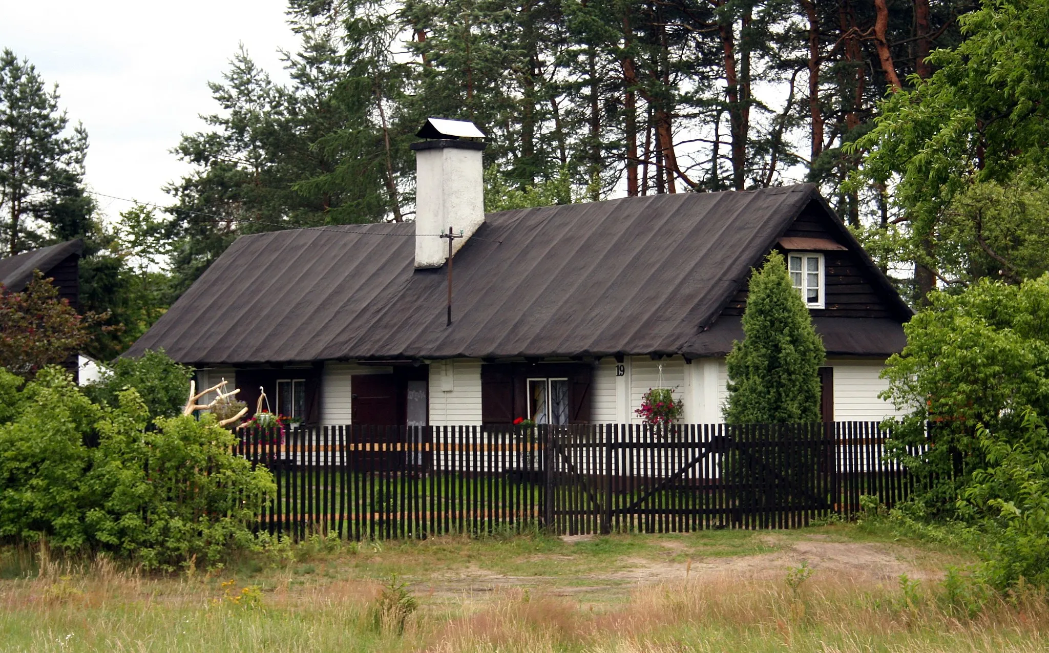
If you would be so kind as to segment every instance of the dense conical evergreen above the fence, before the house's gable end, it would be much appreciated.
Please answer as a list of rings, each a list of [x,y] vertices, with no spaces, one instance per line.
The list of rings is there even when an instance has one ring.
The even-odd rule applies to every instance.
[[[751,274],[743,332],[727,360],[725,420],[818,421],[819,366],[826,352],[776,252]]]

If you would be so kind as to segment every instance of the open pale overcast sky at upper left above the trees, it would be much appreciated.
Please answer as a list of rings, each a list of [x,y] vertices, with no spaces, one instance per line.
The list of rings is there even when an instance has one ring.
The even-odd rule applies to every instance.
[[[160,189],[187,170],[168,150],[202,128],[220,80],[243,43],[275,80],[278,48],[295,49],[286,0],[0,0],[0,49],[57,82],[70,123],[87,128],[91,190],[170,203]],[[115,218],[127,202],[98,198]]]

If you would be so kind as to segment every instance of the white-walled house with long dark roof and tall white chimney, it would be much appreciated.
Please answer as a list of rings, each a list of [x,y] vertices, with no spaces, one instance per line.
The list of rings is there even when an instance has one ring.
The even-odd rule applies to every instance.
[[[163,348],[313,425],[637,422],[657,386],[716,422],[777,248],[827,348],[825,419],[894,413],[879,372],[912,311],[814,186],[485,215],[484,144],[456,129],[413,146],[414,223],[242,236],[125,355]]]

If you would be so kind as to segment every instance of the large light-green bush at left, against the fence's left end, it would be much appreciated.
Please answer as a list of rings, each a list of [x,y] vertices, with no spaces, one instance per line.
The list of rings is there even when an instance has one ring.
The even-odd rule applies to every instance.
[[[46,538],[114,552],[147,568],[211,564],[253,546],[250,525],[274,489],[233,455],[214,417],[158,417],[136,390],[92,404],[58,368],[18,388],[0,371],[0,537]],[[97,440],[97,447],[85,441]]]

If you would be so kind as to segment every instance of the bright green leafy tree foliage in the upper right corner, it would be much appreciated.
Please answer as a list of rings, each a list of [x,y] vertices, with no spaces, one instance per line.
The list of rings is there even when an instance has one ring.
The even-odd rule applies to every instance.
[[[920,266],[943,278],[961,264],[967,268],[963,279],[1001,269],[1019,281],[1025,265],[1006,255],[1027,248],[1019,239],[1031,230],[996,240],[994,226],[982,221],[998,217],[1002,226],[1016,216],[1001,210],[989,216],[981,196],[998,192],[984,184],[1001,191],[1018,177],[1044,179],[1049,171],[1049,2],[986,1],[959,23],[966,39],[932,52],[928,62],[938,69],[890,95],[875,128],[854,149],[870,151],[864,178],[895,186],[894,201],[909,223]],[[1028,190],[1037,193],[1030,184]],[[1044,214],[1030,217],[1041,222],[1033,231],[1043,238]],[[950,240],[959,233],[967,234],[962,253]],[[986,265],[988,258],[996,265]],[[921,293],[930,287],[932,279]]]

